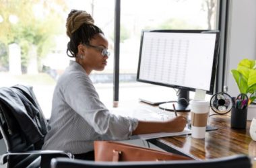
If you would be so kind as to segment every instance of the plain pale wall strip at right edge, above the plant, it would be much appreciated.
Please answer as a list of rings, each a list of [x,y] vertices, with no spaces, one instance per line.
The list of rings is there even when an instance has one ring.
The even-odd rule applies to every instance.
[[[236,96],[238,87],[230,73],[243,58],[256,59],[256,1],[230,0],[228,18],[226,82],[228,93]]]

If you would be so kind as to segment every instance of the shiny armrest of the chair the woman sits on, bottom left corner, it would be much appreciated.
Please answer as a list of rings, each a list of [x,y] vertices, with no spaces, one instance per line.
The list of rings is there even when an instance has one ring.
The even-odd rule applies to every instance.
[[[4,153],[1,155],[0,158],[0,165],[3,165],[3,161],[5,157],[10,156],[10,155],[53,155],[53,154],[61,154],[61,155],[66,155],[69,157],[69,159],[74,159],[74,155],[67,151],[54,151],[54,150],[36,150],[36,151],[26,151],[23,153]]]

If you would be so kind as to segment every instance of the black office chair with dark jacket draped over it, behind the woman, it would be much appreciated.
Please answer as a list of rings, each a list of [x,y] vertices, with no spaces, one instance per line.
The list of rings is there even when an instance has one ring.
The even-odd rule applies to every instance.
[[[28,89],[28,90],[27,90]],[[21,99],[16,95],[20,95]],[[15,99],[12,99],[15,97]],[[13,102],[13,106],[5,102],[5,99]],[[11,110],[17,108],[17,102],[19,105],[26,103],[26,106],[21,109],[24,112],[30,111],[30,115],[34,114],[34,122],[40,122],[40,128],[44,128],[44,131],[39,132],[41,138],[34,140],[30,134],[30,129],[24,130],[26,122],[19,121],[15,114]],[[25,108],[26,107],[26,108]],[[36,108],[37,107],[37,108]],[[35,110],[36,112],[34,112]],[[64,151],[42,151],[43,138],[47,132],[46,122],[44,122],[44,117],[41,114],[40,106],[34,96],[32,87],[18,86],[18,87],[2,87],[0,88],[0,139],[3,138],[7,153],[1,155],[0,158],[0,167],[5,165],[5,167],[30,167],[36,168],[40,167],[40,155],[60,155],[61,157],[69,157],[73,159],[71,153]],[[29,114],[29,112],[28,112]],[[27,114],[26,114],[27,115]],[[25,116],[26,116],[25,115]],[[24,124],[24,125],[23,125]],[[37,128],[34,128],[34,130]],[[38,134],[39,134],[38,133]],[[30,136],[30,137],[28,137]]]

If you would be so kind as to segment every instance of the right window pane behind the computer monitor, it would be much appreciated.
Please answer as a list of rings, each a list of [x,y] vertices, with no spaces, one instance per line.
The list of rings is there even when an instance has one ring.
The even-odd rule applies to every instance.
[[[135,81],[141,30],[214,30],[217,0],[121,1],[119,100],[162,97],[170,100],[174,90]]]

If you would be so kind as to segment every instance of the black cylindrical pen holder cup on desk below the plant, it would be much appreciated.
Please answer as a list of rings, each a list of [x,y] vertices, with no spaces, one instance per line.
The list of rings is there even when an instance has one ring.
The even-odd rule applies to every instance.
[[[245,129],[247,124],[247,108],[231,109],[231,128]]]

